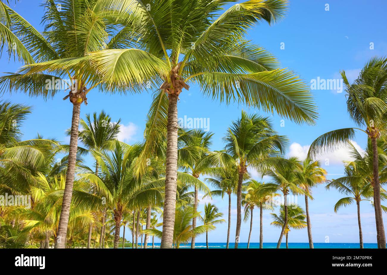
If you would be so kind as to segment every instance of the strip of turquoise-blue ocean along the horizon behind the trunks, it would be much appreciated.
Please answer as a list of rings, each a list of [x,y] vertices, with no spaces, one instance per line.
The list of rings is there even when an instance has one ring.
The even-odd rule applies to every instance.
[[[154,243],[154,245],[155,248],[160,248],[160,243]],[[314,248],[359,248],[359,243],[313,243],[313,246]],[[378,248],[376,243],[365,243],[363,246]],[[264,243],[264,248],[276,247],[277,243]],[[180,248],[191,248],[191,244],[181,244]],[[195,243],[195,248],[206,248],[206,246],[205,243]],[[208,248],[226,248],[226,243],[208,243]],[[234,248],[234,243],[230,243],[229,248]],[[247,248],[247,243],[239,243],[238,248]],[[259,248],[259,243],[250,243],[249,248]],[[281,243],[281,248],[286,248],[286,243]],[[309,243],[289,243],[289,248],[309,248]]]

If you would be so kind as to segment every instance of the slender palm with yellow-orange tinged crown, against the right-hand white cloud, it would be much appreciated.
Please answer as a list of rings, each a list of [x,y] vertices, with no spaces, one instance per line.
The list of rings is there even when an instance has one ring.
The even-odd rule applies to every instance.
[[[312,198],[310,188],[323,183],[326,180],[325,175],[327,174],[327,171],[320,166],[321,164],[319,161],[311,161],[310,159],[305,159],[302,163],[302,180],[300,187],[305,190],[305,210],[307,214],[309,248],[313,248],[313,239],[312,225],[310,224],[308,196]]]

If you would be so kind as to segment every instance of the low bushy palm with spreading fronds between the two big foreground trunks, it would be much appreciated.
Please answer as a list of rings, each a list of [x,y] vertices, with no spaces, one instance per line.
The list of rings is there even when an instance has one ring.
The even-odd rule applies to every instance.
[[[106,198],[106,207],[114,214],[114,248],[118,248],[121,220],[126,210],[133,206],[140,208],[142,205],[147,205],[148,200],[163,200],[164,179],[158,178],[162,169],[159,162],[151,162],[147,174],[142,178],[133,176],[135,160],[141,150],[140,144],[130,146],[116,140],[112,154],[102,152],[96,156],[101,165],[101,176],[96,176],[94,173],[79,174],[109,195]],[[139,216],[137,218],[138,225]],[[139,229],[137,233],[140,233]]]

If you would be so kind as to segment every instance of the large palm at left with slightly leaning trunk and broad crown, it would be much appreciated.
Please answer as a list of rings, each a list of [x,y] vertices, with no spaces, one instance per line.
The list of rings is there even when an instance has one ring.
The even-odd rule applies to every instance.
[[[135,72],[125,77],[125,83],[135,79],[137,84],[146,84],[154,76],[151,71],[161,72],[161,68],[165,66],[163,61],[157,60],[145,51],[128,51],[128,54],[122,56],[121,50],[114,50],[121,43],[125,47],[128,46],[125,42],[127,36],[122,36],[123,32],[117,32],[116,29],[120,20],[126,22],[126,18],[114,17],[107,12],[108,8],[104,9],[110,7],[110,3],[100,5],[101,2],[103,1],[63,0],[59,11],[55,2],[45,1],[43,34],[10,7],[0,3],[0,13],[7,14],[8,20],[7,26],[3,25],[0,31],[0,45],[15,45],[19,59],[26,64],[17,72],[0,77],[1,92],[14,90],[31,96],[43,96],[46,99],[55,96],[60,90],[69,90],[63,99],[70,99],[73,108],[70,150],[56,248],[65,247],[63,240],[67,236],[74,186],[80,105],[83,102],[87,104],[86,96],[94,88],[109,90],[109,84],[104,81],[106,78],[101,77],[106,76],[106,71],[92,65],[89,57],[93,53],[99,56],[102,54],[115,58],[123,57],[124,63],[128,65],[132,62],[130,61],[132,58],[137,59],[139,54],[144,55],[140,60],[141,63],[147,64],[136,64]],[[123,65],[122,62],[115,63]],[[127,65],[123,67],[127,68]],[[132,80],[126,81],[128,79]],[[48,85],[46,80],[51,81],[51,84]],[[109,82],[111,80],[113,78]]]

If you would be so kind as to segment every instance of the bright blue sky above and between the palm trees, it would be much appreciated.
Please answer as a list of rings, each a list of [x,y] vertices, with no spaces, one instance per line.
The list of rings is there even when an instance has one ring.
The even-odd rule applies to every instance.
[[[21,0],[14,9],[39,30],[43,8],[39,7],[40,0]],[[326,10],[326,3],[329,10]],[[249,39],[254,43],[271,51],[282,67],[294,70],[308,83],[312,79],[339,79],[339,71],[346,70],[350,80],[356,78],[360,68],[372,56],[387,55],[386,26],[387,18],[384,14],[387,2],[360,0],[291,0],[286,18],[274,26],[262,23],[249,32]],[[370,49],[373,44],[373,50]],[[281,45],[284,49],[281,49]],[[282,47],[283,48],[283,47]],[[14,72],[20,64],[8,62],[5,55],[0,58],[2,72]],[[319,120],[315,126],[296,125],[281,118],[272,116],[276,130],[288,136],[291,147],[288,155],[305,156],[308,145],[313,140],[329,130],[354,126],[346,110],[345,92],[334,90],[313,90],[313,95],[319,107]],[[63,92],[63,96],[64,96]],[[33,106],[33,113],[22,126],[24,138],[33,138],[36,133],[44,137],[55,137],[68,143],[65,130],[71,125],[72,106],[69,101],[63,101],[62,95],[54,99],[43,101],[40,98],[29,98],[24,94],[4,94],[2,99]],[[98,91],[88,94],[88,105],[82,105],[81,117],[86,113],[99,112],[104,109],[113,120],[122,119],[123,132],[120,139],[128,143],[142,140],[144,122],[151,103],[151,93],[137,95],[110,95]],[[189,91],[183,91],[178,103],[179,117],[209,118],[209,130],[214,132],[213,150],[223,149],[222,137],[232,120],[240,116],[243,106],[230,104],[226,106],[203,97],[197,86],[193,85]],[[244,108],[250,113],[259,112],[252,108]],[[264,114],[264,113],[262,113]],[[270,116],[270,114],[268,114]],[[359,134],[356,144],[364,148],[366,137]],[[329,159],[329,166],[323,167],[328,171],[328,178],[337,178],[343,173],[341,161],[347,158],[346,150],[322,157]],[[323,164],[324,164],[323,162]],[[92,165],[92,162],[89,162]],[[253,173],[254,174],[254,173]],[[256,177],[257,178],[257,177]],[[356,205],[339,210],[335,214],[333,206],[343,195],[337,191],[326,191],[324,186],[313,189],[315,200],[309,203],[312,220],[314,242],[358,242],[358,225]],[[199,210],[204,210],[201,200]],[[213,201],[227,217],[228,202],[215,198]],[[297,201],[305,207],[303,197]],[[256,209],[255,217],[259,217]],[[277,210],[276,210],[277,211]],[[235,236],[236,198],[232,200],[231,240]],[[270,225],[270,212],[264,213],[264,241],[276,242],[280,229]],[[361,219],[365,243],[376,243],[376,228],[373,208],[368,202],[361,203]],[[385,226],[387,215],[384,215]],[[247,242],[249,223],[243,223],[241,228],[241,242]],[[209,233],[210,242],[225,242],[227,224],[219,225],[214,232]],[[205,236],[197,238],[197,242],[204,242]],[[252,242],[259,241],[259,219],[253,221]],[[291,231],[289,242],[307,242],[306,230]]]

